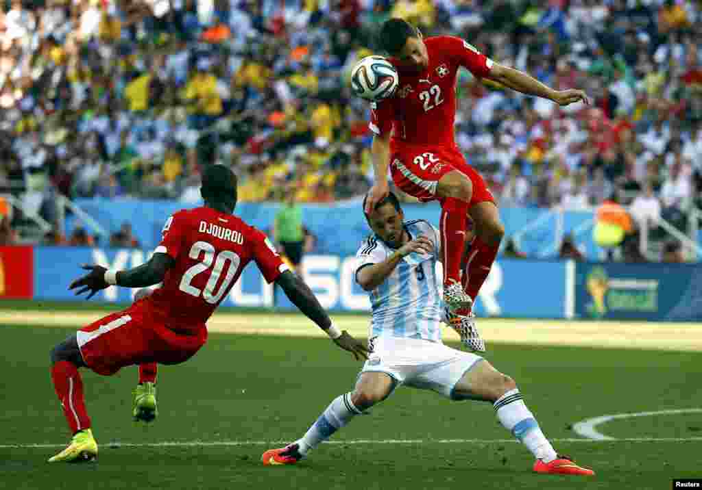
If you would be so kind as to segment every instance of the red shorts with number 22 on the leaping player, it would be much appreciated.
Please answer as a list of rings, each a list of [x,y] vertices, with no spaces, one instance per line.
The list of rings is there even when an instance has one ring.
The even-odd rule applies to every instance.
[[[490,190],[480,174],[468,163],[456,147],[412,147],[403,145],[402,148],[390,154],[390,173],[395,185],[410,196],[420,201],[442,201],[436,195],[439,179],[451,170],[458,170],[470,179],[473,184],[473,196],[470,207],[488,201],[495,202]]]

